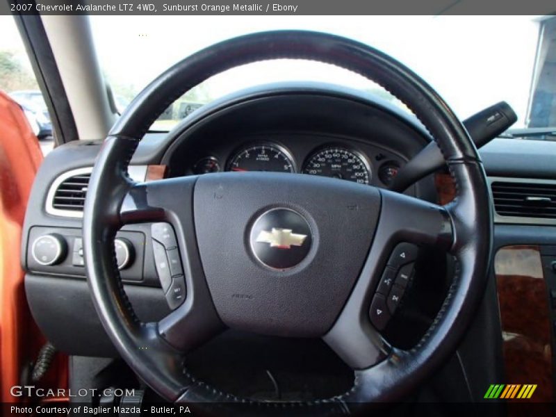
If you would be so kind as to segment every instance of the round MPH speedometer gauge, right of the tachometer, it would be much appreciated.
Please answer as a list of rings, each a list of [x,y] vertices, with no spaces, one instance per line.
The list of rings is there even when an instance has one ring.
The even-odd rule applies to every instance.
[[[313,154],[305,163],[303,173],[361,184],[368,184],[371,177],[369,165],[362,155],[339,147],[329,147]]]

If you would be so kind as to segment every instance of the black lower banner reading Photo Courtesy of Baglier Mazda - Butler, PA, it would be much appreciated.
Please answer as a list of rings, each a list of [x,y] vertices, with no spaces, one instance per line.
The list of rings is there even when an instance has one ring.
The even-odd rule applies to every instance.
[[[129,405],[47,402],[42,404],[1,404],[2,416],[555,416],[553,403],[398,403],[302,404],[289,402],[142,403]]]

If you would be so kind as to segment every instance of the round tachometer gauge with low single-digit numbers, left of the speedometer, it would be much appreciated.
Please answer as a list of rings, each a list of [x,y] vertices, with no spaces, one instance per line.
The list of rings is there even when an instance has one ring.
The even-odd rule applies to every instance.
[[[238,152],[228,164],[229,171],[294,172],[288,152],[277,145],[254,145]]]

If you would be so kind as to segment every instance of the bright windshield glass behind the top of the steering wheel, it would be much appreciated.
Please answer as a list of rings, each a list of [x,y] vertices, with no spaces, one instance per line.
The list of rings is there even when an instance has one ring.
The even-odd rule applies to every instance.
[[[531,16],[90,18],[99,60],[120,111],[167,67],[214,42],[270,29],[307,29],[354,38],[397,58],[429,82],[461,119],[505,100],[518,114],[514,127],[521,128],[530,125],[532,81],[543,21]],[[395,102],[357,74],[321,63],[275,60],[214,76],[176,101],[153,128],[170,129],[202,104],[275,81],[338,83]],[[537,115],[545,115],[543,119],[537,117],[535,126],[556,124],[555,101],[552,94],[535,103]]]

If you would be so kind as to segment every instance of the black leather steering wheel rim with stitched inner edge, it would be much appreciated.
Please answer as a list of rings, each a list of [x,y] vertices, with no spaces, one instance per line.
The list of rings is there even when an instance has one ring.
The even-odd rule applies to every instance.
[[[394,349],[386,360],[370,368],[365,368],[366,362],[356,359],[352,363],[356,369],[354,387],[343,395],[311,404],[296,402],[288,405],[296,406],[295,409],[302,414],[309,411],[318,414],[325,411],[346,413],[351,411],[352,403],[398,400],[416,388],[455,351],[471,322],[481,300],[491,258],[491,205],[477,150],[441,97],[404,65],[353,40],[304,31],[245,35],[215,44],[182,60],[136,97],[104,142],[92,172],[85,202],[83,247],[95,308],[122,357],[140,378],[166,400],[219,403],[218,407],[206,406],[206,410],[219,415],[228,414],[231,410],[223,405],[227,402],[245,404],[243,413],[251,409],[257,413],[261,411],[257,408],[261,405],[258,402],[221,393],[183,371],[182,354],[165,343],[156,325],[141,323],[134,315],[115,267],[113,245],[107,243],[113,240],[115,232],[124,223],[135,220],[134,216],[139,217],[137,210],[126,211],[122,208],[124,200],[130,194],[134,202],[149,198],[145,188],[129,180],[126,168],[138,142],[158,115],[183,92],[210,76],[238,65],[276,58],[331,63],[382,85],[403,101],[427,127],[455,179],[457,197],[454,202],[443,208],[427,206],[428,211],[441,212],[441,217],[446,220],[443,227],[451,229],[448,246],[457,259],[457,271],[441,312],[423,340],[409,351]],[[182,187],[195,188],[195,181],[183,183]],[[138,193],[136,190],[142,191]],[[383,202],[395,198],[388,193],[381,193]],[[145,206],[152,208],[149,204]],[[147,213],[142,213],[140,221],[162,218],[162,212],[161,208],[149,209]],[[426,239],[428,236],[415,233],[414,229],[411,231],[417,238]],[[437,237],[437,240],[441,240],[440,234]],[[373,246],[376,243],[375,240]],[[353,293],[357,293],[361,282],[359,279]],[[364,297],[368,300],[367,289],[361,290],[361,300]],[[210,300],[210,296],[204,300]],[[344,311],[350,309],[350,300]],[[218,313],[211,311],[210,315],[218,316]],[[338,321],[342,318],[340,316]],[[214,319],[212,325],[218,321],[218,318]],[[325,336],[325,340],[326,337],[334,337],[333,331],[334,328],[330,332],[332,336]],[[148,349],[138,349],[142,345]],[[256,407],[251,408],[252,405]],[[304,405],[313,407],[305,409]]]

